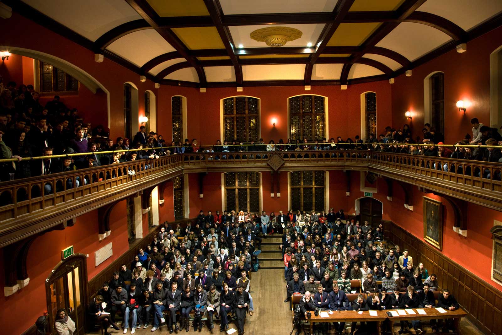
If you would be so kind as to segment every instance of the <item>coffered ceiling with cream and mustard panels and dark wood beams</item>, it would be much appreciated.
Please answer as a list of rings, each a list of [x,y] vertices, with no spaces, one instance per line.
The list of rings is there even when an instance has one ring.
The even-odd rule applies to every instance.
[[[4,2],[156,82],[199,87],[392,78],[502,25],[500,0]],[[271,26],[302,36],[250,38]]]

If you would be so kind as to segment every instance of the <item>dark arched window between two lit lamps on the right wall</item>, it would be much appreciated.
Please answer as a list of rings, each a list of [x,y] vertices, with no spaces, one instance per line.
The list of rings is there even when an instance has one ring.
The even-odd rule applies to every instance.
[[[444,73],[432,72],[424,79],[424,123],[444,134]]]

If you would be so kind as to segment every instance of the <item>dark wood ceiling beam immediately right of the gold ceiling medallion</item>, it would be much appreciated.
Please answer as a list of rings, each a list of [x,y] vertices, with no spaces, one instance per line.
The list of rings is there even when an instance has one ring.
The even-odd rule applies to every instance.
[[[308,85],[310,83],[312,77],[312,68],[314,67],[314,63],[317,61],[317,58],[319,58],[321,53],[324,51],[324,48],[328,44],[328,41],[333,36],[335,30],[338,28],[345,14],[347,14],[348,10],[350,9],[353,3],[354,0],[339,0],[338,3],[336,3],[335,9],[333,10],[335,18],[332,23],[328,23],[326,24],[326,26],[324,26],[324,29],[321,32],[321,35],[319,36],[319,39],[315,44],[315,47],[317,49],[314,54],[309,56],[309,62],[307,63],[307,66],[305,66],[305,75],[303,78],[303,80],[305,81],[305,85]]]

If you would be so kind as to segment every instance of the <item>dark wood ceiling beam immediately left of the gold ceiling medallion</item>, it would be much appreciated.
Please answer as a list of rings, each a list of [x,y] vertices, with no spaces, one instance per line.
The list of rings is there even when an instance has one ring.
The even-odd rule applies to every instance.
[[[221,9],[219,0],[204,0],[204,5],[206,5],[207,11],[211,16],[211,19],[216,27],[216,30],[218,31],[221,41],[223,41],[225,50],[230,57],[235,72],[235,81],[237,82],[238,86],[242,86],[242,67],[239,65],[237,56],[235,56],[235,45],[233,43],[230,30],[228,29],[228,27],[223,26],[221,19],[223,17],[223,10]]]

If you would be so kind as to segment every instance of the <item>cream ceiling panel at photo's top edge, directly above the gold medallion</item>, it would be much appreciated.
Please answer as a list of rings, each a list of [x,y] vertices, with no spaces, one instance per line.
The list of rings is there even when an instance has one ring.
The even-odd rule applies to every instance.
[[[220,0],[223,14],[332,12],[337,0]]]

